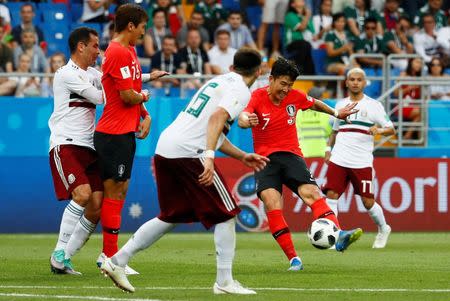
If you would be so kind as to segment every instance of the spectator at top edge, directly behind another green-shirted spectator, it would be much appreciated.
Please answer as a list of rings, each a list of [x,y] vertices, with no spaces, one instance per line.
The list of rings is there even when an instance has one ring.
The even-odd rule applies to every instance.
[[[377,11],[370,9],[370,0],[355,0],[355,6],[347,6],[344,9],[348,30],[354,37],[359,37],[364,31],[364,21],[371,17],[377,20],[376,33],[383,35],[383,26]]]

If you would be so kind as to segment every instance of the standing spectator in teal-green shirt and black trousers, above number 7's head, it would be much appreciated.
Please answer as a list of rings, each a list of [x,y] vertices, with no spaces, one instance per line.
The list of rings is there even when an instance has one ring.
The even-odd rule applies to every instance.
[[[284,45],[289,57],[295,61],[302,74],[314,75],[314,62],[311,55],[314,26],[311,10],[306,7],[305,0],[289,1],[284,26]]]

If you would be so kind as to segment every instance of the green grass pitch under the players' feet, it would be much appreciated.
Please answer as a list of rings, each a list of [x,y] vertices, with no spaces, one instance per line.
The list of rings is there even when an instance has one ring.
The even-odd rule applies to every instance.
[[[120,244],[130,234],[121,234]],[[0,300],[450,300],[450,233],[393,233],[386,249],[365,233],[345,253],[317,250],[295,233],[305,270],[288,272],[269,233],[238,233],[234,276],[254,296],[214,296],[212,233],[169,234],[130,266],[136,293],[125,294],[95,266],[101,237],[73,258],[83,276],[53,275],[52,235],[0,235]]]

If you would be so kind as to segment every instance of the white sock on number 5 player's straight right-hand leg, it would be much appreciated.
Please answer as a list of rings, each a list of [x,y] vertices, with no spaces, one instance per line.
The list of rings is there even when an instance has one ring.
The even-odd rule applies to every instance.
[[[236,219],[216,225],[214,230],[214,243],[216,245],[217,276],[216,282],[226,286],[233,281],[232,266],[236,249]]]

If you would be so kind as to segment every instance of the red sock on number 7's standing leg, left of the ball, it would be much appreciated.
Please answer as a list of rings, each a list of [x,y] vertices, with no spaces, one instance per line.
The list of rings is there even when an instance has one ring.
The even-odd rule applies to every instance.
[[[267,212],[267,219],[269,220],[269,228],[273,238],[283,249],[284,254],[291,260],[297,256],[295,252],[294,243],[292,242],[291,231],[286,224],[283,217],[283,211],[277,209]]]

